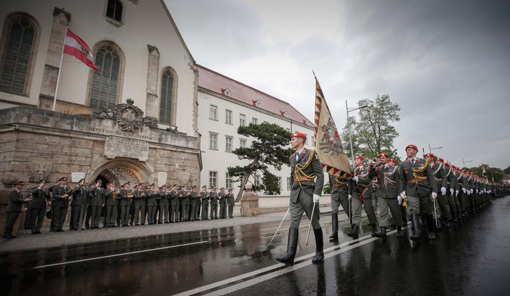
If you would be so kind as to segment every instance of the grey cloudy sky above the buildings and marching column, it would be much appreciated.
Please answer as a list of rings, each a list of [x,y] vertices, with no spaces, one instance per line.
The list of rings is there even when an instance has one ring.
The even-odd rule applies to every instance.
[[[510,166],[510,1],[165,1],[196,62],[308,119],[313,69],[339,128],[345,100],[388,94],[401,157]]]

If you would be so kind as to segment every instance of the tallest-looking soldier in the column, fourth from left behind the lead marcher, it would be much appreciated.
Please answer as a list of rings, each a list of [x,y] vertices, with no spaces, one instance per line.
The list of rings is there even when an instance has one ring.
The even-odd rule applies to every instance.
[[[426,215],[429,228],[429,239],[435,240],[434,231],[434,199],[437,199],[437,184],[432,175],[428,161],[417,158],[418,149],[415,145],[409,144],[405,147],[408,159],[401,163],[399,170],[400,182],[398,189],[400,196],[407,197],[408,208],[412,216],[412,235],[410,239],[420,242],[420,213]]]

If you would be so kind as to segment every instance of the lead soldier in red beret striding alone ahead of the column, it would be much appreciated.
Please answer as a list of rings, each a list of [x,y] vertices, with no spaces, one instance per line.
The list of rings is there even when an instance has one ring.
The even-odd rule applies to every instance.
[[[311,262],[316,263],[324,260],[323,234],[318,220],[318,200],[321,197],[324,175],[321,161],[318,160],[314,149],[305,149],[304,133],[293,133],[290,136],[290,144],[295,149],[290,158],[290,228],[288,232],[287,253],[283,257],[275,258],[276,261],[293,266],[297,251],[297,236],[299,232],[303,212],[307,214],[314,229],[316,253]],[[314,207],[314,203],[317,205]]]

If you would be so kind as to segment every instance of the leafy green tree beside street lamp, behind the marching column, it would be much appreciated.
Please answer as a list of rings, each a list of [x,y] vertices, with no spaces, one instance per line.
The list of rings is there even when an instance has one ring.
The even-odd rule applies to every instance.
[[[379,152],[387,152],[390,157],[396,158],[397,150],[393,144],[398,132],[391,124],[400,121],[400,106],[391,102],[389,95],[377,95],[375,100],[363,99],[358,102],[358,117],[349,116],[346,123],[342,140],[347,152],[351,151],[349,133],[352,135],[352,147],[354,154],[363,154],[365,159],[377,157]]]

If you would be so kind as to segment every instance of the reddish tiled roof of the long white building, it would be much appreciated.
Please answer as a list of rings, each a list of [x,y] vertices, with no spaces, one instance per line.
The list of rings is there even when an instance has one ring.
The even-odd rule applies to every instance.
[[[230,97],[239,102],[264,109],[276,116],[292,119],[296,123],[301,123],[311,128],[314,123],[309,121],[299,111],[292,107],[288,102],[284,102],[276,97],[263,93],[260,90],[247,86],[239,81],[235,81],[211,69],[195,64],[199,71],[199,87],[210,90],[214,93]]]

